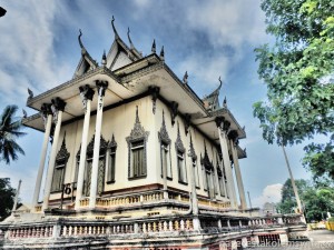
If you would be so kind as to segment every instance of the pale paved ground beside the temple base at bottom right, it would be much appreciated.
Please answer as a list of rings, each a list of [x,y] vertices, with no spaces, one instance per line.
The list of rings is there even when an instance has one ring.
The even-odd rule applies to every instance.
[[[289,242],[288,246],[249,248],[252,250],[334,250],[334,231],[308,231],[311,241]]]

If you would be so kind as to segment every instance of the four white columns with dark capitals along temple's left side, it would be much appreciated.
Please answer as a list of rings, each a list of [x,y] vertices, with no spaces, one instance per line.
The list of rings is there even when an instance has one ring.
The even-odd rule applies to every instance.
[[[101,134],[101,124],[102,124],[102,112],[104,112],[104,97],[106,93],[106,89],[108,87],[107,81],[96,81],[96,87],[98,91],[98,102],[97,102],[97,120],[96,120],[96,134],[95,134],[95,146],[94,146],[94,157],[92,157],[92,173],[91,173],[91,186],[90,186],[90,198],[89,198],[89,207],[95,208],[96,206],[96,196],[97,196],[97,176],[98,176],[98,161],[99,161],[99,147],[100,147],[100,134]],[[88,129],[90,121],[90,110],[91,110],[91,100],[95,94],[95,91],[87,84],[85,87],[79,88],[79,94],[85,109],[85,119],[84,119],[84,129],[82,129],[82,138],[81,138],[81,149],[80,149],[80,162],[79,162],[79,171],[78,171],[78,182],[77,182],[77,194],[76,194],[76,209],[80,206],[80,199],[82,198],[82,189],[84,189],[84,176],[85,176],[85,162],[87,156],[87,144],[88,144]],[[43,203],[42,210],[49,208],[49,197],[51,193],[51,184],[53,178],[53,169],[56,163],[57,150],[58,150],[58,141],[61,129],[61,120],[62,113],[65,111],[66,102],[60,98],[55,98],[51,100],[51,103],[43,103],[41,107],[41,114],[45,120],[45,137],[41,150],[41,159],[38,169],[35,191],[33,191],[33,200],[32,204],[36,207],[38,204],[38,198],[41,188],[41,181],[43,176],[43,168],[46,163],[47,150],[48,150],[48,141],[51,133],[51,128],[55,124],[55,132],[52,137],[52,146],[51,153],[47,169],[46,177],[46,187],[43,193]],[[53,122],[52,122],[53,117]]]

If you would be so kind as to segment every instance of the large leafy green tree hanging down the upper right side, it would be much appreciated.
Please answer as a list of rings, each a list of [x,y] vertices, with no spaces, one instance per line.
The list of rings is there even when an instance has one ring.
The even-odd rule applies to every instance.
[[[254,103],[268,143],[294,144],[316,134],[324,143],[304,150],[315,177],[334,179],[334,4],[333,0],[263,0],[274,44],[255,49],[267,100]]]

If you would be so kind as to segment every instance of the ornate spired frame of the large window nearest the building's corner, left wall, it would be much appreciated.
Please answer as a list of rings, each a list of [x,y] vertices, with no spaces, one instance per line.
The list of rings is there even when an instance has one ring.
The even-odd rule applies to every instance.
[[[134,124],[134,129],[130,132],[130,136],[126,138],[126,141],[128,143],[128,179],[135,180],[135,179],[141,179],[147,177],[147,140],[148,140],[149,132],[145,131],[144,127],[140,124],[139,116],[138,116],[138,106],[136,106],[136,120]],[[144,141],[144,168],[146,174],[139,176],[139,177],[131,177],[131,168],[132,168],[132,143]]]

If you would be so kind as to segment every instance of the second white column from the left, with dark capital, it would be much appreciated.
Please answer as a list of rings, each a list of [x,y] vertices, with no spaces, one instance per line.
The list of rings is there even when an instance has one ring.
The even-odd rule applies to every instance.
[[[58,149],[58,140],[59,140],[59,133],[61,128],[61,118],[62,112],[66,106],[66,102],[63,102],[60,98],[52,99],[52,106],[55,108],[55,113],[57,116],[57,122],[56,122],[56,129],[53,133],[53,142],[51,148],[51,154],[48,166],[48,174],[46,180],[46,189],[45,189],[45,196],[43,196],[43,206],[42,209],[46,210],[49,207],[49,197],[51,192],[51,184],[52,184],[52,178],[53,178],[53,169],[56,163],[56,156],[57,156],[57,149]]]

